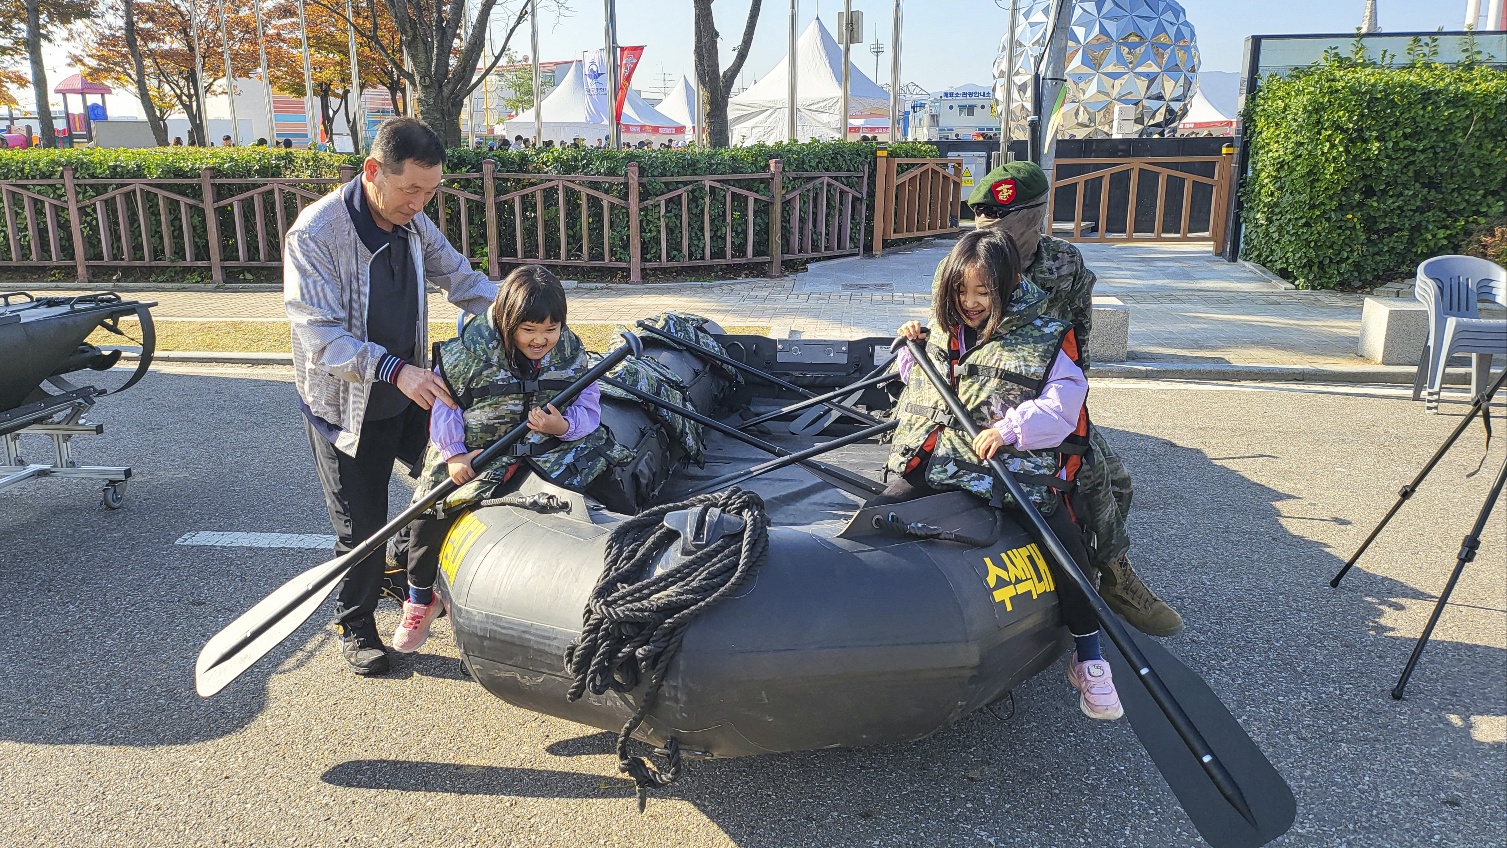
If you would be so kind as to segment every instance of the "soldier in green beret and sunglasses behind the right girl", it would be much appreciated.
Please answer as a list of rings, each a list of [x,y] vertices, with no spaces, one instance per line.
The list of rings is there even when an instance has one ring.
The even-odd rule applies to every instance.
[[[980,227],[998,227],[1020,249],[1026,276],[1047,291],[1046,312],[1070,321],[1078,336],[1081,361],[1088,371],[1088,333],[1094,321],[1094,273],[1068,241],[1043,235],[1046,223],[1046,173],[1029,161],[1014,161],[989,172],[974,187],[967,203]],[[1183,628],[1177,610],[1156,596],[1130,566],[1130,473],[1109,447],[1099,428],[1090,429],[1091,453],[1078,471],[1084,526],[1091,535],[1093,565],[1099,571],[1099,593],[1132,627],[1151,636],[1174,636]]]

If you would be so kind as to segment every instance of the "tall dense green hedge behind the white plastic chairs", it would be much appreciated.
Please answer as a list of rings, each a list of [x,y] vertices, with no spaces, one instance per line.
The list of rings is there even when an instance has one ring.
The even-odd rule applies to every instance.
[[[1242,255],[1299,288],[1409,277],[1507,212],[1507,71],[1331,53],[1245,113]]]

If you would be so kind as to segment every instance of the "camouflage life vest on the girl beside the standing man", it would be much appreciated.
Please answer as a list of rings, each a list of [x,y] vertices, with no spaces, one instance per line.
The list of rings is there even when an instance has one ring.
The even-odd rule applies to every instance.
[[[484,449],[502,438],[527,420],[529,410],[549,404],[592,366],[591,354],[570,327],[561,327],[559,343],[544,355],[538,372],[529,380],[520,380],[506,368],[505,357],[491,310],[469,321],[460,337],[436,345],[434,361],[466,422],[467,450]],[[529,431],[505,458],[488,468],[478,468],[476,479],[445,499],[443,509],[449,512],[488,497],[508,479],[518,459],[527,459],[550,482],[579,491],[607,465],[627,462],[631,455],[612,441],[603,428],[576,441],[561,441],[553,435]],[[434,444],[429,444],[414,500],[448,476],[446,462],[440,459]]]

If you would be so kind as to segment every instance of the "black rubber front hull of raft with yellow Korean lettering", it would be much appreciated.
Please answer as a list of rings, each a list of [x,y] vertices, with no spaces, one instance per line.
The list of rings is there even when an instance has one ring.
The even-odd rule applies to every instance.
[[[461,658],[509,703],[616,731],[636,696],[568,702],[564,655],[619,517],[538,480],[524,488],[570,497],[571,514],[485,508],[448,538],[439,589]],[[876,511],[842,533],[772,527],[757,580],[690,624],[636,737],[656,746],[675,737],[699,756],[918,740],[1067,649],[1055,583],[1017,524],[963,493],[885,512],[895,509],[995,541],[880,535]]]

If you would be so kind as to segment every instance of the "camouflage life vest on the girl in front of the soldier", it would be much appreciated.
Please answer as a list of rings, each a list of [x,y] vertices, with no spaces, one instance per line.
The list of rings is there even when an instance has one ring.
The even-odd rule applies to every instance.
[[[1038,316],[1037,309],[1044,306],[1044,294],[1025,280],[1011,301],[1011,318],[999,333],[961,357],[957,357],[957,337],[949,339],[940,327],[931,327],[927,355],[940,374],[951,377],[958,401],[974,413],[978,426],[992,426],[1007,410],[1038,396],[1046,384],[1070,325]],[[946,348],[939,346],[943,339]],[[891,471],[904,474],[924,461],[927,483],[934,488],[966,490],[995,505],[1013,503],[1004,483],[974,453],[967,432],[952,419],[946,401],[919,368],[910,369],[895,413],[900,426],[895,428],[889,455]],[[930,455],[925,450],[928,443]],[[1005,447],[1002,458],[1038,509],[1050,512],[1056,508],[1058,499],[1052,488],[1061,488],[1061,480],[1055,477],[1061,468],[1061,456],[1055,450],[1020,452]]]

